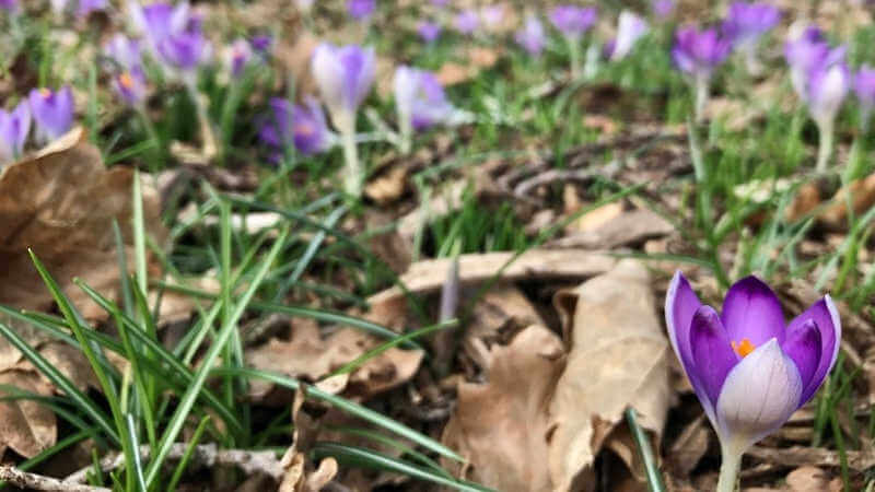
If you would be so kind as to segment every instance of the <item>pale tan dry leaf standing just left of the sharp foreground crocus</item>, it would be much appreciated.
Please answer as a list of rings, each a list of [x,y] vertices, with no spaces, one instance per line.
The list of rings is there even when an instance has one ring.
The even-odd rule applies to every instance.
[[[648,270],[622,260],[573,292],[558,294],[557,301],[571,325],[565,328],[568,366],[550,405],[555,431],[549,462],[556,490],[572,490],[605,446],[640,472],[626,436],[612,431],[632,407],[641,426],[658,441],[669,406],[669,350]]]

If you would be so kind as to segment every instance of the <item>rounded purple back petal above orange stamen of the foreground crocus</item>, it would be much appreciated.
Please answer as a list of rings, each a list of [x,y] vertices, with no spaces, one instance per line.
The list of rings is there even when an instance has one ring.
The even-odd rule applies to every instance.
[[[755,347],[777,338],[784,341],[784,313],[781,303],[768,285],[756,277],[736,282],[723,301],[723,326],[730,340],[748,339]]]

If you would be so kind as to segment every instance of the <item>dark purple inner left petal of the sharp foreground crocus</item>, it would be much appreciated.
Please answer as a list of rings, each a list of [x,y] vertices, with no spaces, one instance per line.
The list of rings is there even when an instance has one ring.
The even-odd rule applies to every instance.
[[[720,315],[713,307],[701,306],[696,311],[690,327],[690,348],[697,379],[713,408],[726,375],[738,363],[738,355],[733,351]]]

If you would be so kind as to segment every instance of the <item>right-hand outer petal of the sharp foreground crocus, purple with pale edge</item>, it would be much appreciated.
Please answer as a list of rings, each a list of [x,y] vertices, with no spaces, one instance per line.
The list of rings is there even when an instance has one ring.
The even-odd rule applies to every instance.
[[[805,324],[808,319],[813,319],[817,325],[820,332],[820,362],[817,364],[812,379],[805,386],[802,393],[802,400],[800,405],[805,405],[820,387],[820,384],[827,377],[829,370],[836,364],[836,358],[839,355],[839,343],[841,340],[841,320],[839,319],[839,311],[832,298],[827,295],[820,301],[814,303],[805,313],[798,315],[788,327],[788,331],[798,330],[800,326]]]

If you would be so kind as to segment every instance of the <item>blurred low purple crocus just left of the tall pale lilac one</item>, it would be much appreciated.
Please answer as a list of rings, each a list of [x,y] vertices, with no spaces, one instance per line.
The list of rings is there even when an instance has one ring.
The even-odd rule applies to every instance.
[[[273,97],[269,103],[270,113],[262,119],[258,130],[259,139],[275,152],[282,152],[287,145],[294,144],[298,152],[313,155],[330,149],[335,136],[328,129],[325,114],[319,103],[307,97],[304,105],[294,105]]]

